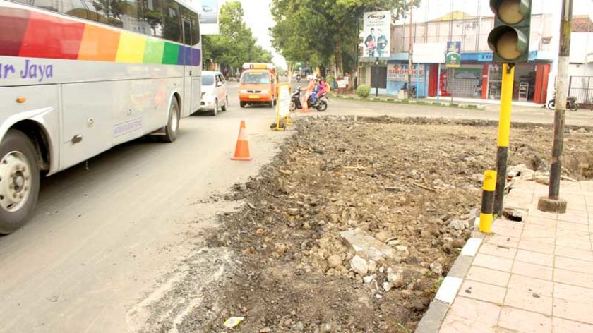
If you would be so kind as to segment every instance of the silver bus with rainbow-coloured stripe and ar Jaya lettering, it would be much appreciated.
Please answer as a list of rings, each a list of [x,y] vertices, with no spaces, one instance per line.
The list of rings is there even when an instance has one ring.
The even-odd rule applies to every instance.
[[[200,23],[176,0],[0,0],[0,234],[40,178],[200,108]]]

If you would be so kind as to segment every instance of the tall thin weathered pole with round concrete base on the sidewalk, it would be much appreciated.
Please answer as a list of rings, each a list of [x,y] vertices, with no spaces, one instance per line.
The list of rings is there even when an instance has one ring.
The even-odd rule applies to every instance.
[[[566,112],[566,97],[568,97],[570,32],[572,30],[573,0],[563,0],[560,51],[558,52],[558,76],[556,77],[556,111],[554,113],[554,142],[550,168],[550,188],[548,197],[539,198],[537,204],[537,209],[541,211],[560,214],[566,212],[566,200],[560,198],[560,178],[562,174],[562,149],[564,145],[564,117]]]

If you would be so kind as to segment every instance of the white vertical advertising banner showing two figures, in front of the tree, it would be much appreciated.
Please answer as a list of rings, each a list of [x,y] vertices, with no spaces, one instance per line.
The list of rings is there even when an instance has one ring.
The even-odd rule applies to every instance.
[[[391,12],[366,12],[363,22],[363,56],[388,58],[391,53]]]

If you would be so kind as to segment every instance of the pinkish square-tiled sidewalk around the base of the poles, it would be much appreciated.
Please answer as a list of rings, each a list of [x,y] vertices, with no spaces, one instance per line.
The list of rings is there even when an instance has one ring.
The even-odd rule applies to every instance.
[[[593,333],[593,181],[563,182],[567,214],[537,210],[547,186],[516,183],[479,246],[439,332]]]

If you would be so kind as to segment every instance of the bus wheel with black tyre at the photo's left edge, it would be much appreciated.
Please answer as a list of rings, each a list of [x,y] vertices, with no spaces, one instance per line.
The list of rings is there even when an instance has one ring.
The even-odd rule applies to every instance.
[[[39,182],[35,146],[25,133],[9,130],[0,143],[0,234],[25,224],[35,209]]]

